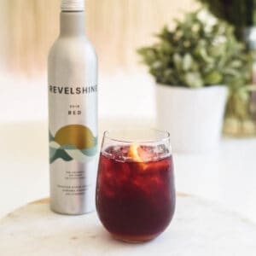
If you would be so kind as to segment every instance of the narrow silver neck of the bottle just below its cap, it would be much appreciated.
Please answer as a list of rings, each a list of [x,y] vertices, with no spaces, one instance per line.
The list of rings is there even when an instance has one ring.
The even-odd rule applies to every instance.
[[[78,37],[85,34],[84,11],[61,12],[61,36]]]

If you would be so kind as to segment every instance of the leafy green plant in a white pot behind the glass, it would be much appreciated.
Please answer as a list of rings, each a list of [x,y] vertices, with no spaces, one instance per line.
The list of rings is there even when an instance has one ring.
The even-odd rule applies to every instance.
[[[205,9],[176,20],[153,46],[138,49],[156,81],[157,119],[170,131],[172,148],[217,148],[229,86],[242,83],[247,63],[232,26]]]

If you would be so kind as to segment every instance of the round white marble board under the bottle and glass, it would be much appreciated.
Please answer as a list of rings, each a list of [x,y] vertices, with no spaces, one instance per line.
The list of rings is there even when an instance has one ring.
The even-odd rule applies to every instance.
[[[189,210],[188,210],[189,209]],[[212,201],[177,195],[176,213],[153,241],[131,244],[114,240],[96,216],[59,215],[49,201],[36,201],[0,219],[4,256],[254,256],[256,225]]]

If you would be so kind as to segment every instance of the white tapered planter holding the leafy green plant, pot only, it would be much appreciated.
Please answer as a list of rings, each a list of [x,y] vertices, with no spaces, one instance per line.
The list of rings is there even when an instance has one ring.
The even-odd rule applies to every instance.
[[[156,86],[158,127],[170,131],[174,152],[218,148],[227,95],[222,85],[200,89]]]

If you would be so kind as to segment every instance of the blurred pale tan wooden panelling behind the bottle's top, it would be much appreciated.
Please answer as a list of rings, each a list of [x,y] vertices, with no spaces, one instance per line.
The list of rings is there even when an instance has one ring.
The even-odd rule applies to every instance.
[[[102,72],[137,68],[135,50],[194,0],[87,0],[86,27]],[[45,71],[49,47],[59,30],[59,0],[1,0],[1,61],[10,71]]]

